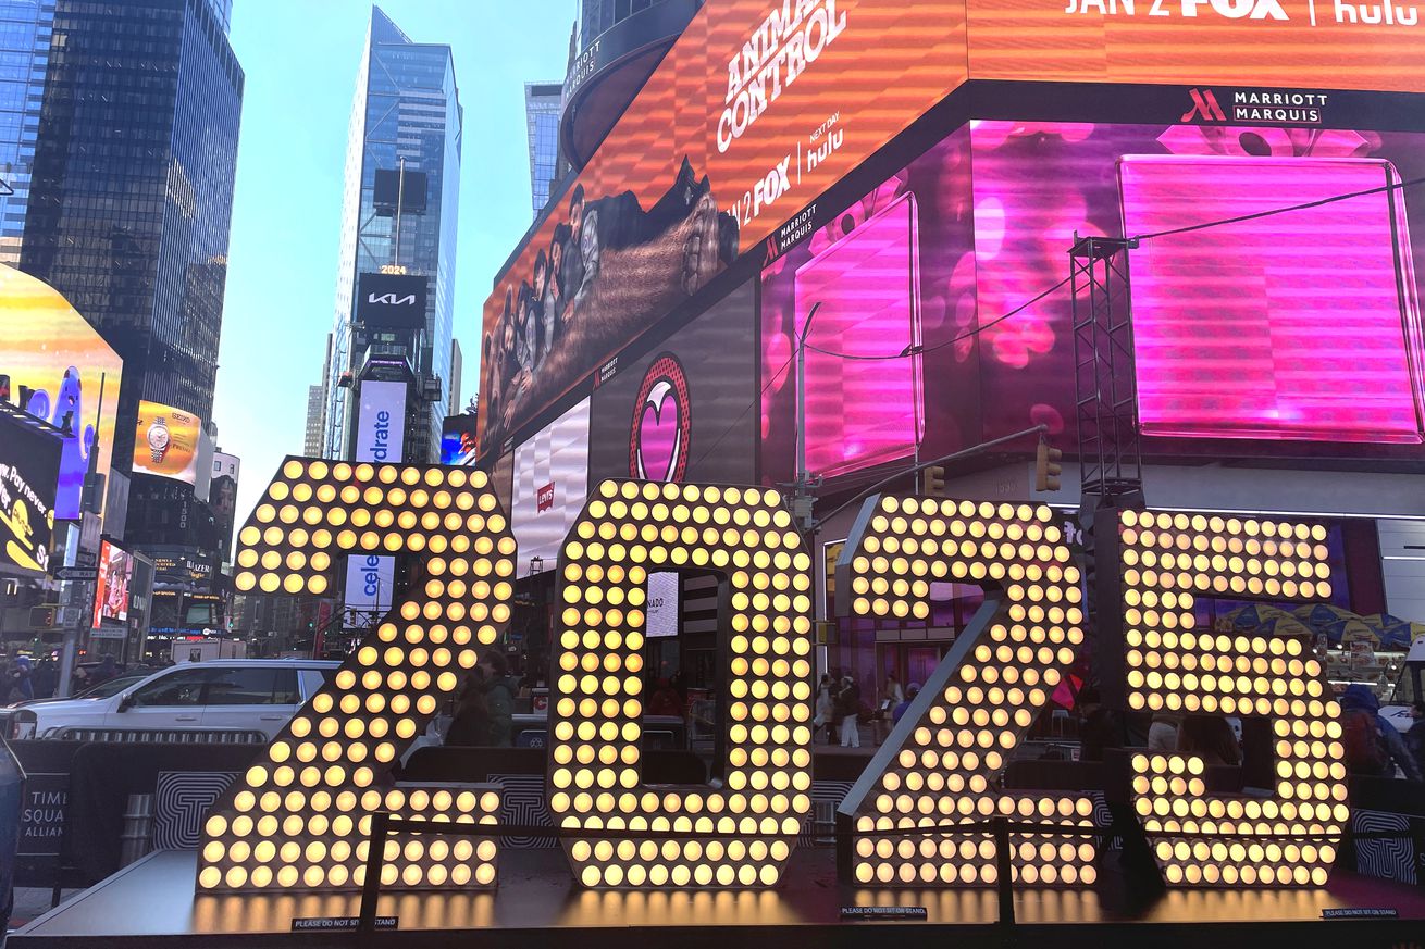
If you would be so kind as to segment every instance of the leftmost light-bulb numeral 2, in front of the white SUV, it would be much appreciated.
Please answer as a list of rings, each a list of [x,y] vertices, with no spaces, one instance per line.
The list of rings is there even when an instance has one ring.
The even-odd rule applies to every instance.
[[[494,824],[489,784],[393,787],[393,762],[509,621],[514,539],[484,472],[286,459],[239,531],[239,590],[325,593],[343,554],[423,557],[372,630],[214,805],[200,892],[355,889],[370,815]],[[383,883],[492,886],[489,838],[393,834]]]

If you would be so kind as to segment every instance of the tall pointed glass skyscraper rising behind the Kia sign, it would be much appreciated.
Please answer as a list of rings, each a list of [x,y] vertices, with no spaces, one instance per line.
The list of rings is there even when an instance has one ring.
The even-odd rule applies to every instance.
[[[351,452],[359,400],[349,396],[376,359],[388,366],[403,363],[412,376],[406,460],[439,456],[452,379],[460,130],[450,47],[413,41],[372,7],[346,138],[336,308],[323,379],[323,455]],[[378,194],[382,178],[398,174],[400,198],[388,204]],[[425,276],[429,292],[420,332],[380,339],[365,333],[358,321],[362,274]]]

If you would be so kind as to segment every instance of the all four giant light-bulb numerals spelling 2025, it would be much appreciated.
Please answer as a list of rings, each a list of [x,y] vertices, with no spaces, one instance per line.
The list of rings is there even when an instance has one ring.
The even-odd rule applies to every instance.
[[[1330,594],[1318,524],[1117,512],[1096,539],[1100,627],[1129,710],[1270,722],[1274,787],[1218,794],[1191,754],[1126,757],[1127,799],[1168,885],[1321,885],[1348,819],[1338,704],[1300,638],[1194,627],[1198,597]],[[352,889],[372,815],[486,825],[395,834],[382,883],[497,881],[500,788],[408,785],[393,762],[510,618],[516,543],[486,474],[288,459],[239,534],[244,591],[322,594],[352,553],[410,554],[419,581],[212,808],[200,892]],[[777,885],[811,812],[812,557],[775,490],[606,480],[560,557],[549,808],[590,888]],[[643,643],[651,570],[721,576],[722,782],[647,785]],[[861,885],[988,885],[1012,819],[1029,885],[1092,885],[1097,788],[1002,789],[999,775],[1079,657],[1083,564],[1046,506],[869,499],[838,563],[839,611],[926,618],[931,584],[985,606],[852,788],[844,872]],[[1112,576],[1112,583],[1104,577]],[[1103,594],[1113,590],[1109,603]]]

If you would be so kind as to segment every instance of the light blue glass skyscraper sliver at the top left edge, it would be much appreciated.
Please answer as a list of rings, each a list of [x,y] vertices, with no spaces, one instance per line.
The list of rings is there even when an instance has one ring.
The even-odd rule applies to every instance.
[[[20,262],[54,0],[0,0],[0,264]]]

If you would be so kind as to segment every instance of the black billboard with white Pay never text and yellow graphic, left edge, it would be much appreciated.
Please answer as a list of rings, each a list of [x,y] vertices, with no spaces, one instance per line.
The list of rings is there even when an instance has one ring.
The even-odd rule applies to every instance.
[[[0,567],[47,573],[64,437],[34,416],[0,408]]]

